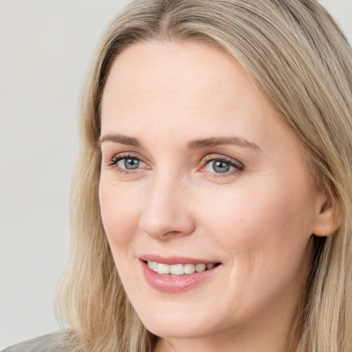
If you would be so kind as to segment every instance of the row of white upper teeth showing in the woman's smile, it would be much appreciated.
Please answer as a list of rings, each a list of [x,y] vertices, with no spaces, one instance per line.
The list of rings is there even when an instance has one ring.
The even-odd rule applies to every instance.
[[[160,275],[184,275],[193,274],[194,272],[205,272],[211,270],[215,266],[215,263],[199,263],[195,264],[173,264],[168,265],[164,263],[157,263],[155,261],[148,261],[148,267],[157,272]]]

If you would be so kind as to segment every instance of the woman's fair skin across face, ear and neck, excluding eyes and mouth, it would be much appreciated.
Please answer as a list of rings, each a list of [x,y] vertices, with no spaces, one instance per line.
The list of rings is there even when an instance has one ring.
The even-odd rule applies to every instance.
[[[116,134],[140,146],[107,137]],[[188,148],[233,136],[251,145]],[[109,73],[101,139],[104,229],[127,296],[162,337],[155,351],[285,351],[311,234],[331,231],[331,201],[242,67],[203,43],[133,44]],[[141,161],[129,173],[126,154]],[[122,161],[111,165],[114,157]],[[209,161],[219,157],[241,167],[219,174]],[[165,293],[146,283],[142,254],[221,267],[186,292]]]

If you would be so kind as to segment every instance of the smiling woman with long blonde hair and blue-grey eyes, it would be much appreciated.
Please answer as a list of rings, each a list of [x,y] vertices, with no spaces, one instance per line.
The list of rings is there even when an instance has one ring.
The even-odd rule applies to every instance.
[[[131,3],[82,99],[70,329],[8,351],[351,351],[351,87],[315,0]]]

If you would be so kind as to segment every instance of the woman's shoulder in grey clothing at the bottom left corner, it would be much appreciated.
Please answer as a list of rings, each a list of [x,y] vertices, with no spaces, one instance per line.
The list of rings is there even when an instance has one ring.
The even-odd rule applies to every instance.
[[[56,331],[39,338],[24,341],[1,352],[67,352],[69,330]]]

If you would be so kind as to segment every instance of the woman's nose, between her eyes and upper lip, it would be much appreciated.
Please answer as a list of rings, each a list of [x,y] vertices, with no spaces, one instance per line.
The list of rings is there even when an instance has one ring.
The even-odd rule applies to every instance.
[[[189,189],[170,177],[155,179],[140,217],[140,229],[153,239],[166,241],[195,230],[190,211]]]

